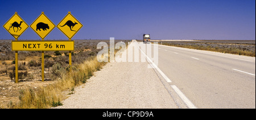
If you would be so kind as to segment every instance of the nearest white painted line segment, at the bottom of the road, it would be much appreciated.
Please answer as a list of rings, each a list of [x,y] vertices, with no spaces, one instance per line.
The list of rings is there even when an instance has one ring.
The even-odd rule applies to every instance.
[[[185,102],[185,104],[188,106],[189,109],[196,109],[196,106],[192,104],[191,101],[188,100],[188,98],[180,91],[179,88],[175,85],[171,85],[172,89],[180,96],[181,100]]]

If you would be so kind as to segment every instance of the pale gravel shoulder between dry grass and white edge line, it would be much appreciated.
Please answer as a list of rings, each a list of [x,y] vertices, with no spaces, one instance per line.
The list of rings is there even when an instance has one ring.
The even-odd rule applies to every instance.
[[[147,73],[147,75],[144,75]],[[108,63],[55,108],[177,108],[147,63]]]

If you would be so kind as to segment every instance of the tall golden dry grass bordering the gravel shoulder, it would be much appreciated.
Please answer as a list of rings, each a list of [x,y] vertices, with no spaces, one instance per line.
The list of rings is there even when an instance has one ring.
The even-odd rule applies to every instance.
[[[98,71],[106,63],[99,63],[96,57],[90,57],[82,64],[77,64],[72,69],[61,75],[61,78],[54,84],[42,86],[38,90],[20,90],[19,102],[10,102],[9,108],[19,109],[42,109],[61,105],[61,100],[65,98],[64,91],[74,89],[75,86],[85,83],[93,76],[93,72]]]

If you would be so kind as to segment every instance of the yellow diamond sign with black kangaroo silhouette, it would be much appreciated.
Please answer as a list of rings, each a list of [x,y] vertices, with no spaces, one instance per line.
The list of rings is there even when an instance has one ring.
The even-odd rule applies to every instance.
[[[57,24],[57,28],[69,39],[82,28],[82,24],[70,12]]]

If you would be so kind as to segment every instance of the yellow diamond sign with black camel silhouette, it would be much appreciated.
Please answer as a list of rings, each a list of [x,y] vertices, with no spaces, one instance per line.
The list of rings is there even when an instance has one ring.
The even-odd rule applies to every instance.
[[[15,12],[13,16],[3,25],[5,30],[7,30],[15,39],[18,39],[20,35],[29,27],[28,24],[20,18],[20,16]]]

